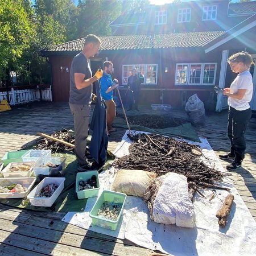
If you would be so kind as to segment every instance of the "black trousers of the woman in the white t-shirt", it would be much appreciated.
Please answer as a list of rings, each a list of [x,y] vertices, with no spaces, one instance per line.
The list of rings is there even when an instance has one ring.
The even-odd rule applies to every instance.
[[[236,110],[229,107],[228,136],[231,142],[230,153],[237,162],[245,158],[245,131],[251,118],[251,109]]]

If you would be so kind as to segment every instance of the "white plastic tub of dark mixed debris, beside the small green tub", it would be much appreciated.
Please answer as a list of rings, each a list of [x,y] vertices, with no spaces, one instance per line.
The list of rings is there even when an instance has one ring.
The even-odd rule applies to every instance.
[[[30,204],[38,207],[51,207],[64,189],[64,177],[45,177],[27,196]],[[52,194],[51,197],[36,197],[40,190],[49,184],[55,183],[59,187]]]

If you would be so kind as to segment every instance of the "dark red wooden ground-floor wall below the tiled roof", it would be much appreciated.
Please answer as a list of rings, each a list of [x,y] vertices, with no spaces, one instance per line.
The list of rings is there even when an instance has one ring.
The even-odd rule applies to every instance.
[[[181,106],[184,100],[197,93],[204,102],[212,97],[210,92],[213,86],[191,86],[175,85],[176,63],[217,63],[216,83],[220,76],[221,54],[205,54],[203,49],[182,48],[182,49],[148,49],[144,51],[116,51],[102,52],[96,56],[105,60],[112,61],[114,64],[113,78],[118,79],[122,85],[122,65],[127,64],[158,64],[158,80],[156,85],[141,85],[141,104],[171,104]],[[73,55],[71,56],[52,56],[52,82],[53,82],[53,101],[68,101],[69,98],[69,75]],[[61,71],[60,67],[63,67]],[[164,72],[165,67],[168,73]],[[127,85],[121,89],[122,97],[126,92]],[[163,90],[163,92],[162,92]],[[163,100],[160,96],[163,94]],[[125,99],[123,99],[125,101]]]

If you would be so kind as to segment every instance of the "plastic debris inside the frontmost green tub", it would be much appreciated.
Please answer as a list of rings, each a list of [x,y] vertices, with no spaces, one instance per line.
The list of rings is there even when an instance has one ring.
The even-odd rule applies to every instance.
[[[104,201],[101,208],[98,210],[97,216],[108,218],[109,220],[116,221],[121,212],[122,204],[115,204],[113,202]]]

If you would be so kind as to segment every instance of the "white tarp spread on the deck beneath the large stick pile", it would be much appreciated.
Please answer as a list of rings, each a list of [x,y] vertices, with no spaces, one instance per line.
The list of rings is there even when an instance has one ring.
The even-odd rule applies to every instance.
[[[118,157],[129,154],[128,147],[131,142],[126,134],[115,150],[115,155]],[[205,163],[210,163],[219,171],[225,172],[207,139],[200,138],[200,140],[201,143],[188,142],[203,148],[203,154],[207,158]],[[114,168],[111,167],[100,174],[101,189],[111,188],[114,172]],[[254,218],[238,195],[232,181],[225,178],[224,183],[222,185],[229,187],[234,195],[234,203],[225,228],[219,227],[218,218],[215,216],[228,195],[227,191],[220,189],[216,189],[216,197],[210,202],[208,200],[212,194],[210,190],[201,191],[207,199],[198,195],[194,197],[195,228],[180,228],[176,225],[163,225],[152,221],[144,201],[133,196],[127,196],[122,224],[115,232],[92,226],[89,211],[92,209],[95,198],[88,199],[85,212],[69,212],[63,221],[109,236],[126,238],[139,246],[173,255],[256,255]]]

